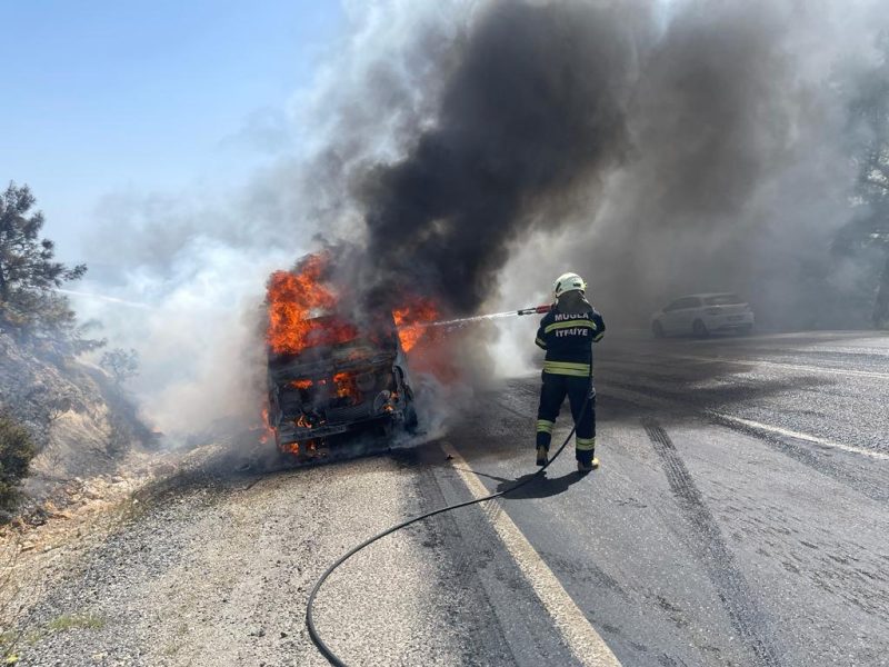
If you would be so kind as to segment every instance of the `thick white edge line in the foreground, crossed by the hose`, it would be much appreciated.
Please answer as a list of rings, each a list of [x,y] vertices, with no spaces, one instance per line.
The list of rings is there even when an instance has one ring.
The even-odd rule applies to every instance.
[[[485,488],[479,478],[468,471],[469,464],[449,442],[442,444],[442,449],[457,464],[455,470],[472,496],[476,498],[490,496],[490,491]],[[498,501],[493,500],[492,502]],[[582,665],[591,667],[620,667],[615,654],[611,653],[611,649],[608,648],[599,633],[590,625],[590,621],[583,616],[583,613],[571,599],[571,596],[562,588],[559,579],[547,567],[547,564],[543,563],[543,559],[531,546],[531,542],[528,541],[528,538],[525,537],[519,527],[512,522],[512,519],[499,505],[493,507],[496,507],[496,510],[486,512],[488,519],[497,530],[497,535],[503,541],[509,554],[516,560],[516,565],[519,566],[522,575],[528,579],[537,597],[540,598],[543,607],[552,616],[556,627],[561,633],[565,643],[575,657]]]

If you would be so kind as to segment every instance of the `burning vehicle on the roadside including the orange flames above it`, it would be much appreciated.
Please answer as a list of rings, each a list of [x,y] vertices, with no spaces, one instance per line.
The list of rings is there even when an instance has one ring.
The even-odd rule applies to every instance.
[[[303,259],[269,279],[268,426],[278,451],[299,461],[337,458],[416,430],[407,350],[423,309],[368,312],[323,280],[329,258]],[[428,313],[427,313],[428,315]]]

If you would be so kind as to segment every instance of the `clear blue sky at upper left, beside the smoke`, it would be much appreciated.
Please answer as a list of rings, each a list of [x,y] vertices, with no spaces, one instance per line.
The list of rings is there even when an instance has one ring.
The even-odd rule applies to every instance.
[[[76,260],[104,195],[243,182],[276,148],[246,129],[283,118],[344,16],[334,0],[9,0],[0,20],[0,182],[31,186]]]

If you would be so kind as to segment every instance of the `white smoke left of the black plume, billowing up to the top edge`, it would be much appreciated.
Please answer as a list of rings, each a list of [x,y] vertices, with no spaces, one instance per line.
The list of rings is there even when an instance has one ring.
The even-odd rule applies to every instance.
[[[139,354],[129,387],[152,428],[178,440],[260,424],[266,280],[316,248],[318,232],[361,238],[350,173],[430,121],[440,53],[422,37],[446,48],[473,4],[347,2],[347,31],[282,110],[293,155],[222,198],[183,186],[99,202],[90,273],[70,298],[111,347]]]

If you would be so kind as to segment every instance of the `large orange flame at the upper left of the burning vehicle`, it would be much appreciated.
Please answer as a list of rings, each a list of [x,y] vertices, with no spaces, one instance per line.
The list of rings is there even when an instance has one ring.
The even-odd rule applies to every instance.
[[[297,355],[306,348],[353,340],[358,330],[337,318],[324,317],[337,296],[323,283],[329,257],[310,255],[293,271],[274,271],[269,278],[267,341],[276,355]]]

